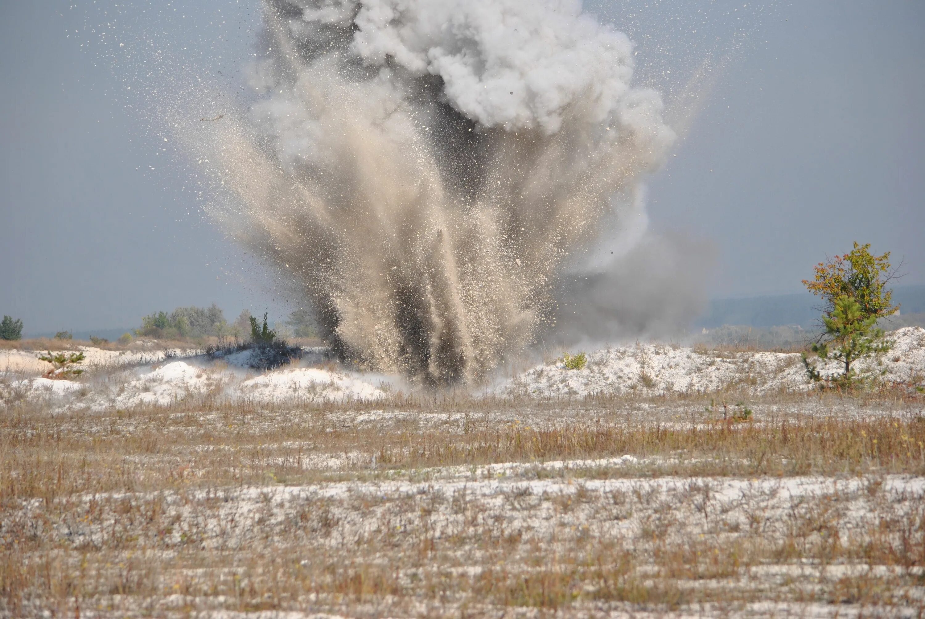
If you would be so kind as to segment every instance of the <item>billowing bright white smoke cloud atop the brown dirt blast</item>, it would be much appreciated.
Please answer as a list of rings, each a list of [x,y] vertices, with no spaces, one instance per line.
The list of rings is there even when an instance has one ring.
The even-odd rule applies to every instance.
[[[579,2],[350,4],[359,28],[351,52],[372,66],[391,57],[413,75],[440,76],[450,105],[485,127],[554,133],[579,97],[591,122],[620,116],[633,45],[622,32],[582,15]],[[634,98],[659,105],[655,97]]]

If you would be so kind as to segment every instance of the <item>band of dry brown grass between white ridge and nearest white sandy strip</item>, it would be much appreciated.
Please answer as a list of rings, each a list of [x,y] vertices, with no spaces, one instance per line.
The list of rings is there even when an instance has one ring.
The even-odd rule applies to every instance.
[[[555,402],[529,409],[524,402],[467,405],[462,396],[398,406],[395,419],[369,405],[345,410],[329,402],[294,411],[216,401],[102,414],[9,407],[0,414],[0,500],[260,484],[270,474],[310,483],[319,473],[306,472],[306,458],[344,453],[356,462],[332,475],[623,454],[659,457],[646,465],[651,475],[925,474],[925,416],[904,415],[903,401],[875,416],[759,413],[739,423],[703,402],[677,399],[673,420],[634,410],[632,401],[589,399],[561,419]],[[919,399],[907,402],[917,410]],[[369,423],[351,421],[371,413]],[[422,425],[425,416],[431,421]]]

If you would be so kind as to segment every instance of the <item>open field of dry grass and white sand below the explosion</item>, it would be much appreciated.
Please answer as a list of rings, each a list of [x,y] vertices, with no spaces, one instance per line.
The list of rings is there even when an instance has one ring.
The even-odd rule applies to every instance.
[[[67,397],[6,378],[0,615],[925,612],[925,396],[908,385],[94,395],[173,384],[176,364],[243,372],[97,368]],[[239,380],[309,371],[341,372]]]

